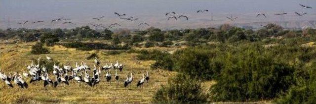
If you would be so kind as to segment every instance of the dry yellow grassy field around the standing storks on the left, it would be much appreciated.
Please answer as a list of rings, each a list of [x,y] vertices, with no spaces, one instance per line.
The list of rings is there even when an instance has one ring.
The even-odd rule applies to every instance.
[[[0,44],[0,68],[3,72],[13,73],[18,71],[22,73],[27,71],[25,64],[30,64],[31,59],[46,59],[45,54],[33,55],[31,46],[35,43],[20,43],[20,44]],[[175,72],[165,70],[151,70],[150,64],[154,61],[140,61],[136,59],[137,53],[120,53],[117,55],[108,55],[106,50],[99,51],[78,51],[76,49],[67,49],[62,46],[49,47],[48,54],[54,60],[58,60],[61,64],[71,63],[75,66],[76,62],[84,61],[90,67],[93,67],[93,59],[86,60],[85,58],[91,53],[97,53],[101,64],[114,63],[116,60],[125,63],[126,67],[122,72],[119,72],[120,82],[112,80],[112,85],[109,86],[105,81],[105,72],[102,71],[101,82],[94,88],[85,85],[79,86],[79,83],[71,82],[69,86],[59,85],[58,88],[48,86],[43,88],[43,82],[30,84],[28,89],[21,89],[16,84],[14,88],[0,82],[0,103],[151,103],[151,99],[160,85],[166,84],[168,79],[174,76]],[[160,48],[161,49],[161,48]],[[161,50],[177,50],[175,48],[162,48]],[[136,88],[137,81],[141,79],[141,74],[149,72],[151,80],[148,86],[144,88]],[[123,81],[126,75],[133,72],[135,75],[131,88],[124,88]],[[112,70],[114,76],[115,71]],[[54,77],[51,75],[51,79]],[[26,78],[29,82],[29,78]],[[13,83],[13,81],[12,81]],[[209,87],[209,86],[207,86]]]

